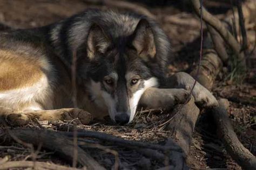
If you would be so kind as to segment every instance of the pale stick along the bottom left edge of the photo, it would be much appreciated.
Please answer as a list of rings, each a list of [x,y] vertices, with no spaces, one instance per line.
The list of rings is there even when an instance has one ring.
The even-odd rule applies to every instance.
[[[36,169],[49,169],[49,170],[78,170],[77,168],[66,167],[62,165],[56,165],[49,162],[33,162],[33,161],[9,161],[1,164],[0,170],[11,169],[11,168],[32,168]]]

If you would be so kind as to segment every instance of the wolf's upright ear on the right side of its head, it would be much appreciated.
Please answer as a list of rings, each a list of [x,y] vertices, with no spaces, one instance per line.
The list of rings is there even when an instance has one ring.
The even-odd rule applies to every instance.
[[[141,19],[133,33],[133,47],[144,60],[148,57],[156,56],[156,44],[154,42],[153,31],[146,19]]]

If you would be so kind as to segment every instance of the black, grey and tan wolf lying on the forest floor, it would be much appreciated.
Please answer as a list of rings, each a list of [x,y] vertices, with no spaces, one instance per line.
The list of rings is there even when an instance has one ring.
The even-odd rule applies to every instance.
[[[87,124],[105,115],[130,123],[138,106],[170,109],[190,97],[189,74],[166,77],[170,58],[164,31],[136,13],[90,9],[40,28],[1,32],[0,115],[11,125],[34,118]],[[217,105],[199,83],[192,96]]]

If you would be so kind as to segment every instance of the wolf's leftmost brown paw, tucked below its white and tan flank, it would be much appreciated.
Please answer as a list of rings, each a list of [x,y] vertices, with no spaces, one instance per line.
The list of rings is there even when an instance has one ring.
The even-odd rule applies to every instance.
[[[29,123],[29,117],[23,113],[10,113],[5,116],[5,121],[11,126],[23,126]]]

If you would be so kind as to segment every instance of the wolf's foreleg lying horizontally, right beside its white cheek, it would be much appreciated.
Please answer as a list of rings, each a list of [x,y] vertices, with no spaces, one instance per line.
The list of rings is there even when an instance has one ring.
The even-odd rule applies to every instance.
[[[139,104],[147,108],[165,108],[169,110],[177,104],[189,101],[189,94],[184,89],[158,89],[150,87],[143,93]]]

